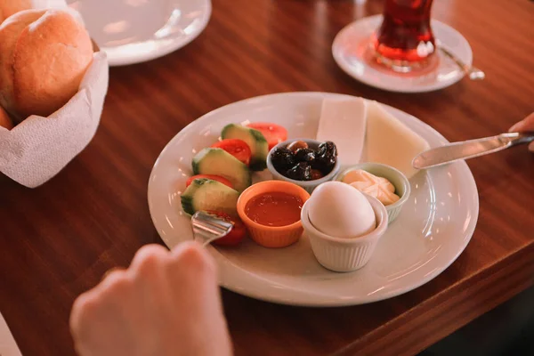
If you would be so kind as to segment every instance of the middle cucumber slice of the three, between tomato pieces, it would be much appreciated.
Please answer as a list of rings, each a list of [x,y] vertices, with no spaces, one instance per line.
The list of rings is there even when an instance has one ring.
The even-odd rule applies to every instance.
[[[207,148],[193,158],[195,174],[216,174],[228,179],[235,190],[246,190],[252,184],[247,165],[221,149]]]

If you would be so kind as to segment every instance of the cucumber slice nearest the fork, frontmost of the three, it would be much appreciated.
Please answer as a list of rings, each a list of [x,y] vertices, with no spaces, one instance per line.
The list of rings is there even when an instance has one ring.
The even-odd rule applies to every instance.
[[[211,179],[195,179],[182,193],[182,209],[186,214],[198,210],[219,211],[237,215],[239,192]]]

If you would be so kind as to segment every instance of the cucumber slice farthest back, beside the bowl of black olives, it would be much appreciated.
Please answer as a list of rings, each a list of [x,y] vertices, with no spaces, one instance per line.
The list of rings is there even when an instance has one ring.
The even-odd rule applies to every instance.
[[[230,124],[223,128],[221,133],[223,139],[239,139],[247,142],[252,153],[250,158],[250,169],[253,171],[263,171],[267,167],[265,161],[269,153],[269,144],[263,134],[253,128],[242,125]]]

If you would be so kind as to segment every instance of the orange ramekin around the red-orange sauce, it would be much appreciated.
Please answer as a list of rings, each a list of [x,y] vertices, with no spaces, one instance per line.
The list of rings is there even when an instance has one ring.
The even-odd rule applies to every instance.
[[[294,244],[303,234],[303,224],[299,220],[286,226],[266,226],[255,223],[245,214],[248,201],[263,193],[280,191],[303,199],[303,203],[310,198],[310,193],[298,185],[284,181],[259,182],[248,187],[241,193],[238,200],[238,214],[247,226],[250,238],[263,247],[287,247]]]

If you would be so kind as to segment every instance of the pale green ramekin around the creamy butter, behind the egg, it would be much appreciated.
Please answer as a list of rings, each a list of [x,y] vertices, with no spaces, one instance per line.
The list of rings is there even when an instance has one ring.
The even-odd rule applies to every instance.
[[[393,168],[392,166],[386,166],[380,163],[360,163],[359,165],[354,165],[346,168],[343,172],[336,175],[336,181],[343,182],[343,178],[346,174],[351,171],[361,169],[370,174],[375,174],[378,177],[383,177],[388,181],[392,182],[395,187],[395,194],[397,194],[400,199],[394,202],[389,206],[385,206],[387,210],[387,215],[389,218],[389,223],[392,223],[399,214],[401,214],[402,206],[409,198],[411,188],[409,186],[409,181],[406,175],[402,174],[398,169]]]

